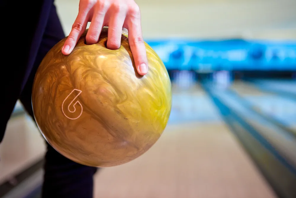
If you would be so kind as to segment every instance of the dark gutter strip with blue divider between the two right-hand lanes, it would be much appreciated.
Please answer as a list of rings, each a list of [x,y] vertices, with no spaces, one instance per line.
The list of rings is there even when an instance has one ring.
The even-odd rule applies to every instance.
[[[284,127],[255,113],[250,104],[231,89],[221,89],[211,83],[205,85],[205,89],[279,197],[294,198],[295,137]]]

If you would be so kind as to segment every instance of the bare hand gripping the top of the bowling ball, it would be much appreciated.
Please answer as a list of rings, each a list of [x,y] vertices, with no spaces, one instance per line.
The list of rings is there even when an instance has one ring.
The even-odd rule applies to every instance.
[[[128,42],[133,53],[136,69],[140,75],[148,72],[146,48],[142,36],[141,12],[134,0],[80,0],[78,16],[65,41],[62,53],[68,55],[91,22],[86,34],[86,43],[99,40],[101,30],[108,26],[107,48],[118,49],[122,28],[128,29]]]

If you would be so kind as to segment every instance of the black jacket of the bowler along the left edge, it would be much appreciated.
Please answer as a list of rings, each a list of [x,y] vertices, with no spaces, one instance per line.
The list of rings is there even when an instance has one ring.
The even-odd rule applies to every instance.
[[[1,85],[4,87],[1,142],[7,121],[32,71],[54,0],[0,2]]]

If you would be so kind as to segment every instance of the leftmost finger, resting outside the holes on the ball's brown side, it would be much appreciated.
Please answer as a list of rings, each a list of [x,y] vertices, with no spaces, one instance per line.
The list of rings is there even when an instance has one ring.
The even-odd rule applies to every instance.
[[[88,23],[87,12],[80,12],[72,26],[72,30],[62,47],[62,53],[68,55],[72,52],[77,44],[78,39],[81,37],[86,29]]]

